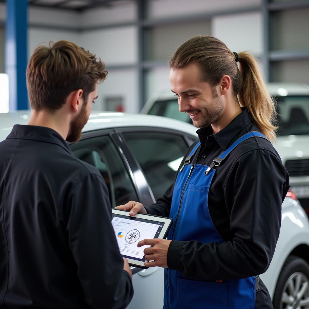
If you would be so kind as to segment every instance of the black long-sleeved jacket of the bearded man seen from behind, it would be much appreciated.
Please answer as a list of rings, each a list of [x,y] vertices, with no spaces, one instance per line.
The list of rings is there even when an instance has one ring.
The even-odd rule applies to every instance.
[[[0,143],[0,307],[125,308],[133,296],[99,171],[54,130]]]

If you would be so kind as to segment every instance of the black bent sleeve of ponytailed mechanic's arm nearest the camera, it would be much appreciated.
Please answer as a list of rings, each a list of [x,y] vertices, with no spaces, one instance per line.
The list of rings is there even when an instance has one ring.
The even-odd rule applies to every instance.
[[[231,239],[204,244],[173,240],[167,253],[168,267],[202,280],[264,273],[279,237],[281,204],[288,188],[286,169],[272,152],[257,149],[243,154],[231,167],[222,192],[230,215]]]

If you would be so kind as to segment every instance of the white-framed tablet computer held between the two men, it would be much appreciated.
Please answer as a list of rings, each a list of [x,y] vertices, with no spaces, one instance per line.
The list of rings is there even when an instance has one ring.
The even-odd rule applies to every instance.
[[[166,238],[173,220],[150,214],[129,215],[129,211],[112,209],[112,226],[120,253],[128,259],[129,265],[146,269],[144,249],[138,242],[149,238]]]

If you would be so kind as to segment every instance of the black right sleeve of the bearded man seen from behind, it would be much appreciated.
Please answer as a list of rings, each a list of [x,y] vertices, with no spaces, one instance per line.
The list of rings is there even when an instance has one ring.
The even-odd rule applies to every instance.
[[[133,286],[123,270],[104,180],[96,174],[85,176],[68,200],[68,242],[86,303],[100,309],[127,307]]]

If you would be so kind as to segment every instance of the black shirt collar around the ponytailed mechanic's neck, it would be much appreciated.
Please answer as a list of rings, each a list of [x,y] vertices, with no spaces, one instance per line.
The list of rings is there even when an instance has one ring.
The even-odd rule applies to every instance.
[[[226,150],[231,140],[237,135],[246,125],[248,125],[252,119],[249,115],[247,108],[241,108],[242,112],[237,115],[224,129],[220,130],[216,134],[212,134],[211,125],[197,130],[197,135],[202,140],[207,141],[216,140],[222,150]]]

